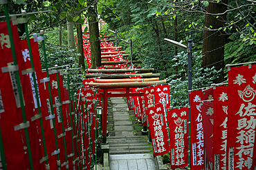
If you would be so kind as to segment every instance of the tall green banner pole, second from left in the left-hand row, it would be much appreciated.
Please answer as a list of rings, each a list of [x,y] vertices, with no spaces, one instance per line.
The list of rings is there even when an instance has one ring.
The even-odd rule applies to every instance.
[[[24,18],[26,18],[26,11],[22,11],[22,14],[24,15]],[[34,82],[34,88],[35,88],[35,97],[37,98],[37,109],[38,109],[37,115],[42,115],[39,96],[38,96],[39,92],[38,92],[38,86],[37,86],[37,78],[35,78],[35,66],[34,66],[33,54],[32,54],[29,34],[28,34],[28,23],[24,23],[24,24],[25,24],[24,27],[25,27],[25,32],[26,32],[26,39],[27,39],[27,43],[28,43],[28,51],[29,51],[29,56],[30,56],[30,64],[31,64],[31,68],[34,70],[34,72],[32,73],[32,76],[33,76],[33,82]],[[43,142],[43,147],[44,147],[44,157],[47,157],[48,155],[47,155],[47,149],[46,149],[46,140],[45,140],[45,136],[44,136],[44,125],[43,125],[42,116],[39,118],[39,122],[40,122],[42,142]],[[46,160],[46,169],[50,169],[48,159]]]

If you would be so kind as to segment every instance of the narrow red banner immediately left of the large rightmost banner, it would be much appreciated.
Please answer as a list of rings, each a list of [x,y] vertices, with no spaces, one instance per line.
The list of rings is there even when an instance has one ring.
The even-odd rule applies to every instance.
[[[214,167],[226,169],[226,146],[228,132],[228,86],[216,87],[214,92],[213,155]]]

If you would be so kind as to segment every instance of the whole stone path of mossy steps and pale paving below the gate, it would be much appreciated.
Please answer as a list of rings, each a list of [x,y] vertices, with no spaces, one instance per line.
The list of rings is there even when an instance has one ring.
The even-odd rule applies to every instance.
[[[134,128],[129,115],[127,103],[123,98],[109,98],[111,101],[111,121],[114,136],[109,136],[109,168],[111,170],[155,170],[152,144],[147,136],[134,136]],[[110,117],[110,116],[109,116]],[[113,134],[113,133],[112,133]],[[132,154],[131,154],[132,153]]]

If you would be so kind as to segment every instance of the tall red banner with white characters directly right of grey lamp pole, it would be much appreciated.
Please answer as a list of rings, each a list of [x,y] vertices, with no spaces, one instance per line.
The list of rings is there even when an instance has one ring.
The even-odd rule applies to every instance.
[[[203,100],[203,92],[201,90],[190,93],[190,167],[193,170],[204,169],[203,118],[200,100]]]

